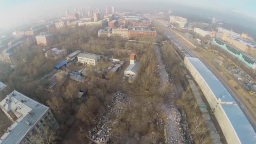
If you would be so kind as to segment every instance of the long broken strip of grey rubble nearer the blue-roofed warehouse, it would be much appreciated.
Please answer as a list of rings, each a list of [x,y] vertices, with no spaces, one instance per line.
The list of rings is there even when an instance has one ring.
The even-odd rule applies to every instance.
[[[158,63],[158,72],[161,81],[161,86],[164,83],[172,84],[172,79],[168,75],[166,66],[163,63],[163,54],[160,47],[155,48],[155,55]],[[173,95],[174,93],[172,93]],[[191,144],[191,136],[186,134],[186,131],[189,129],[186,120],[183,120],[184,112],[179,112],[178,108],[175,106],[174,102],[166,101],[166,103],[161,107],[161,111],[165,114],[166,118],[160,118],[157,121],[159,128],[164,128],[166,131],[166,140],[168,144],[179,143],[179,144]]]

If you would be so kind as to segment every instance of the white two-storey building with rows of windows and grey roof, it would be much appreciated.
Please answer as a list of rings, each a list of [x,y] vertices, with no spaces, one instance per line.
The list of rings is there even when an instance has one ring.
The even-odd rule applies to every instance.
[[[100,59],[101,56],[91,53],[79,53],[79,55],[77,55],[78,62],[93,66],[96,66]]]

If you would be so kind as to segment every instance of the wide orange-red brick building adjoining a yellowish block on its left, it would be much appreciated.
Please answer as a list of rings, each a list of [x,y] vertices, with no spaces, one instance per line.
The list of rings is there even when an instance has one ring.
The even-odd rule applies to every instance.
[[[147,27],[131,27],[128,31],[128,38],[136,37],[157,37],[157,32],[149,30]]]

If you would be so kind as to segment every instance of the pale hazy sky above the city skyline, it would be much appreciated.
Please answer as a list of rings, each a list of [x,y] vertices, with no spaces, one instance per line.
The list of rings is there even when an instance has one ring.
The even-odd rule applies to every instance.
[[[0,0],[0,13],[4,13],[1,15],[0,28],[13,27],[35,18],[58,16],[66,9],[73,10],[75,7],[103,9],[104,6],[115,5],[118,9],[132,8],[136,3],[143,4],[142,7],[150,3],[166,3],[170,7],[173,4],[198,7],[223,13],[240,13],[256,19],[256,0]]]

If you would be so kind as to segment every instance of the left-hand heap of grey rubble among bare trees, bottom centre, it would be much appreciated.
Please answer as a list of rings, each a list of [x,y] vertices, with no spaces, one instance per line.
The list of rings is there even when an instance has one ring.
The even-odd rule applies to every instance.
[[[101,115],[97,123],[94,123],[96,126],[91,131],[88,131],[88,136],[98,143],[107,142],[112,130],[110,127],[117,123],[116,121],[109,120],[109,116],[119,115],[120,112],[123,112],[124,108],[117,107],[117,105],[119,103],[126,104],[127,101],[127,95],[122,93],[122,91],[117,91],[115,93],[114,99],[112,100],[112,103],[107,106],[107,113]]]

